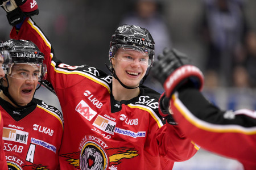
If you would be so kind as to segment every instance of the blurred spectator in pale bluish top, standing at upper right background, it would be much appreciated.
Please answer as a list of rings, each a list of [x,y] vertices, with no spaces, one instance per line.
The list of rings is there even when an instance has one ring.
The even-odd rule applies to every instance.
[[[247,22],[242,0],[203,0],[199,33],[207,45],[206,70],[217,71],[224,85],[232,85],[233,66],[245,61]]]

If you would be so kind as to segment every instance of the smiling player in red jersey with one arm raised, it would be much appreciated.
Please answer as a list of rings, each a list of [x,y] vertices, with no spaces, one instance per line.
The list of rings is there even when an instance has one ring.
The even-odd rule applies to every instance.
[[[160,94],[142,85],[154,62],[147,29],[117,28],[109,50],[112,75],[62,63],[31,18],[14,27],[11,37],[31,40],[45,54],[47,79],[65,120],[61,169],[172,169],[195,155],[195,143],[160,116]]]

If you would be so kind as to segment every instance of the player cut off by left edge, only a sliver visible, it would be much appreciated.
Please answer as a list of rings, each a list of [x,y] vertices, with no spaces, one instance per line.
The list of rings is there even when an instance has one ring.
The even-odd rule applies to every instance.
[[[11,64],[11,55],[8,50],[5,49],[2,43],[0,43],[0,79],[5,76],[3,69],[7,69]],[[7,170],[7,163],[5,159],[5,152],[3,151],[3,119],[0,111],[0,167],[3,170]]]

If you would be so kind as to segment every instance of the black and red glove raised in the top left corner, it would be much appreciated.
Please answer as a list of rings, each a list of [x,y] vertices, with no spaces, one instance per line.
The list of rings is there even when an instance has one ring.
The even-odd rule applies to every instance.
[[[0,5],[7,12],[10,25],[23,22],[25,17],[38,15],[38,5],[35,0],[0,0]]]

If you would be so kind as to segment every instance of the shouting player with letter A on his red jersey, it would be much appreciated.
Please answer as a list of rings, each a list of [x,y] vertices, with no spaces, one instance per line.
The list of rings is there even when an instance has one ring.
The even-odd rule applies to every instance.
[[[47,72],[44,55],[31,41],[11,39],[2,46],[12,60],[0,79],[1,134],[8,168],[60,169],[63,116],[34,98]]]

